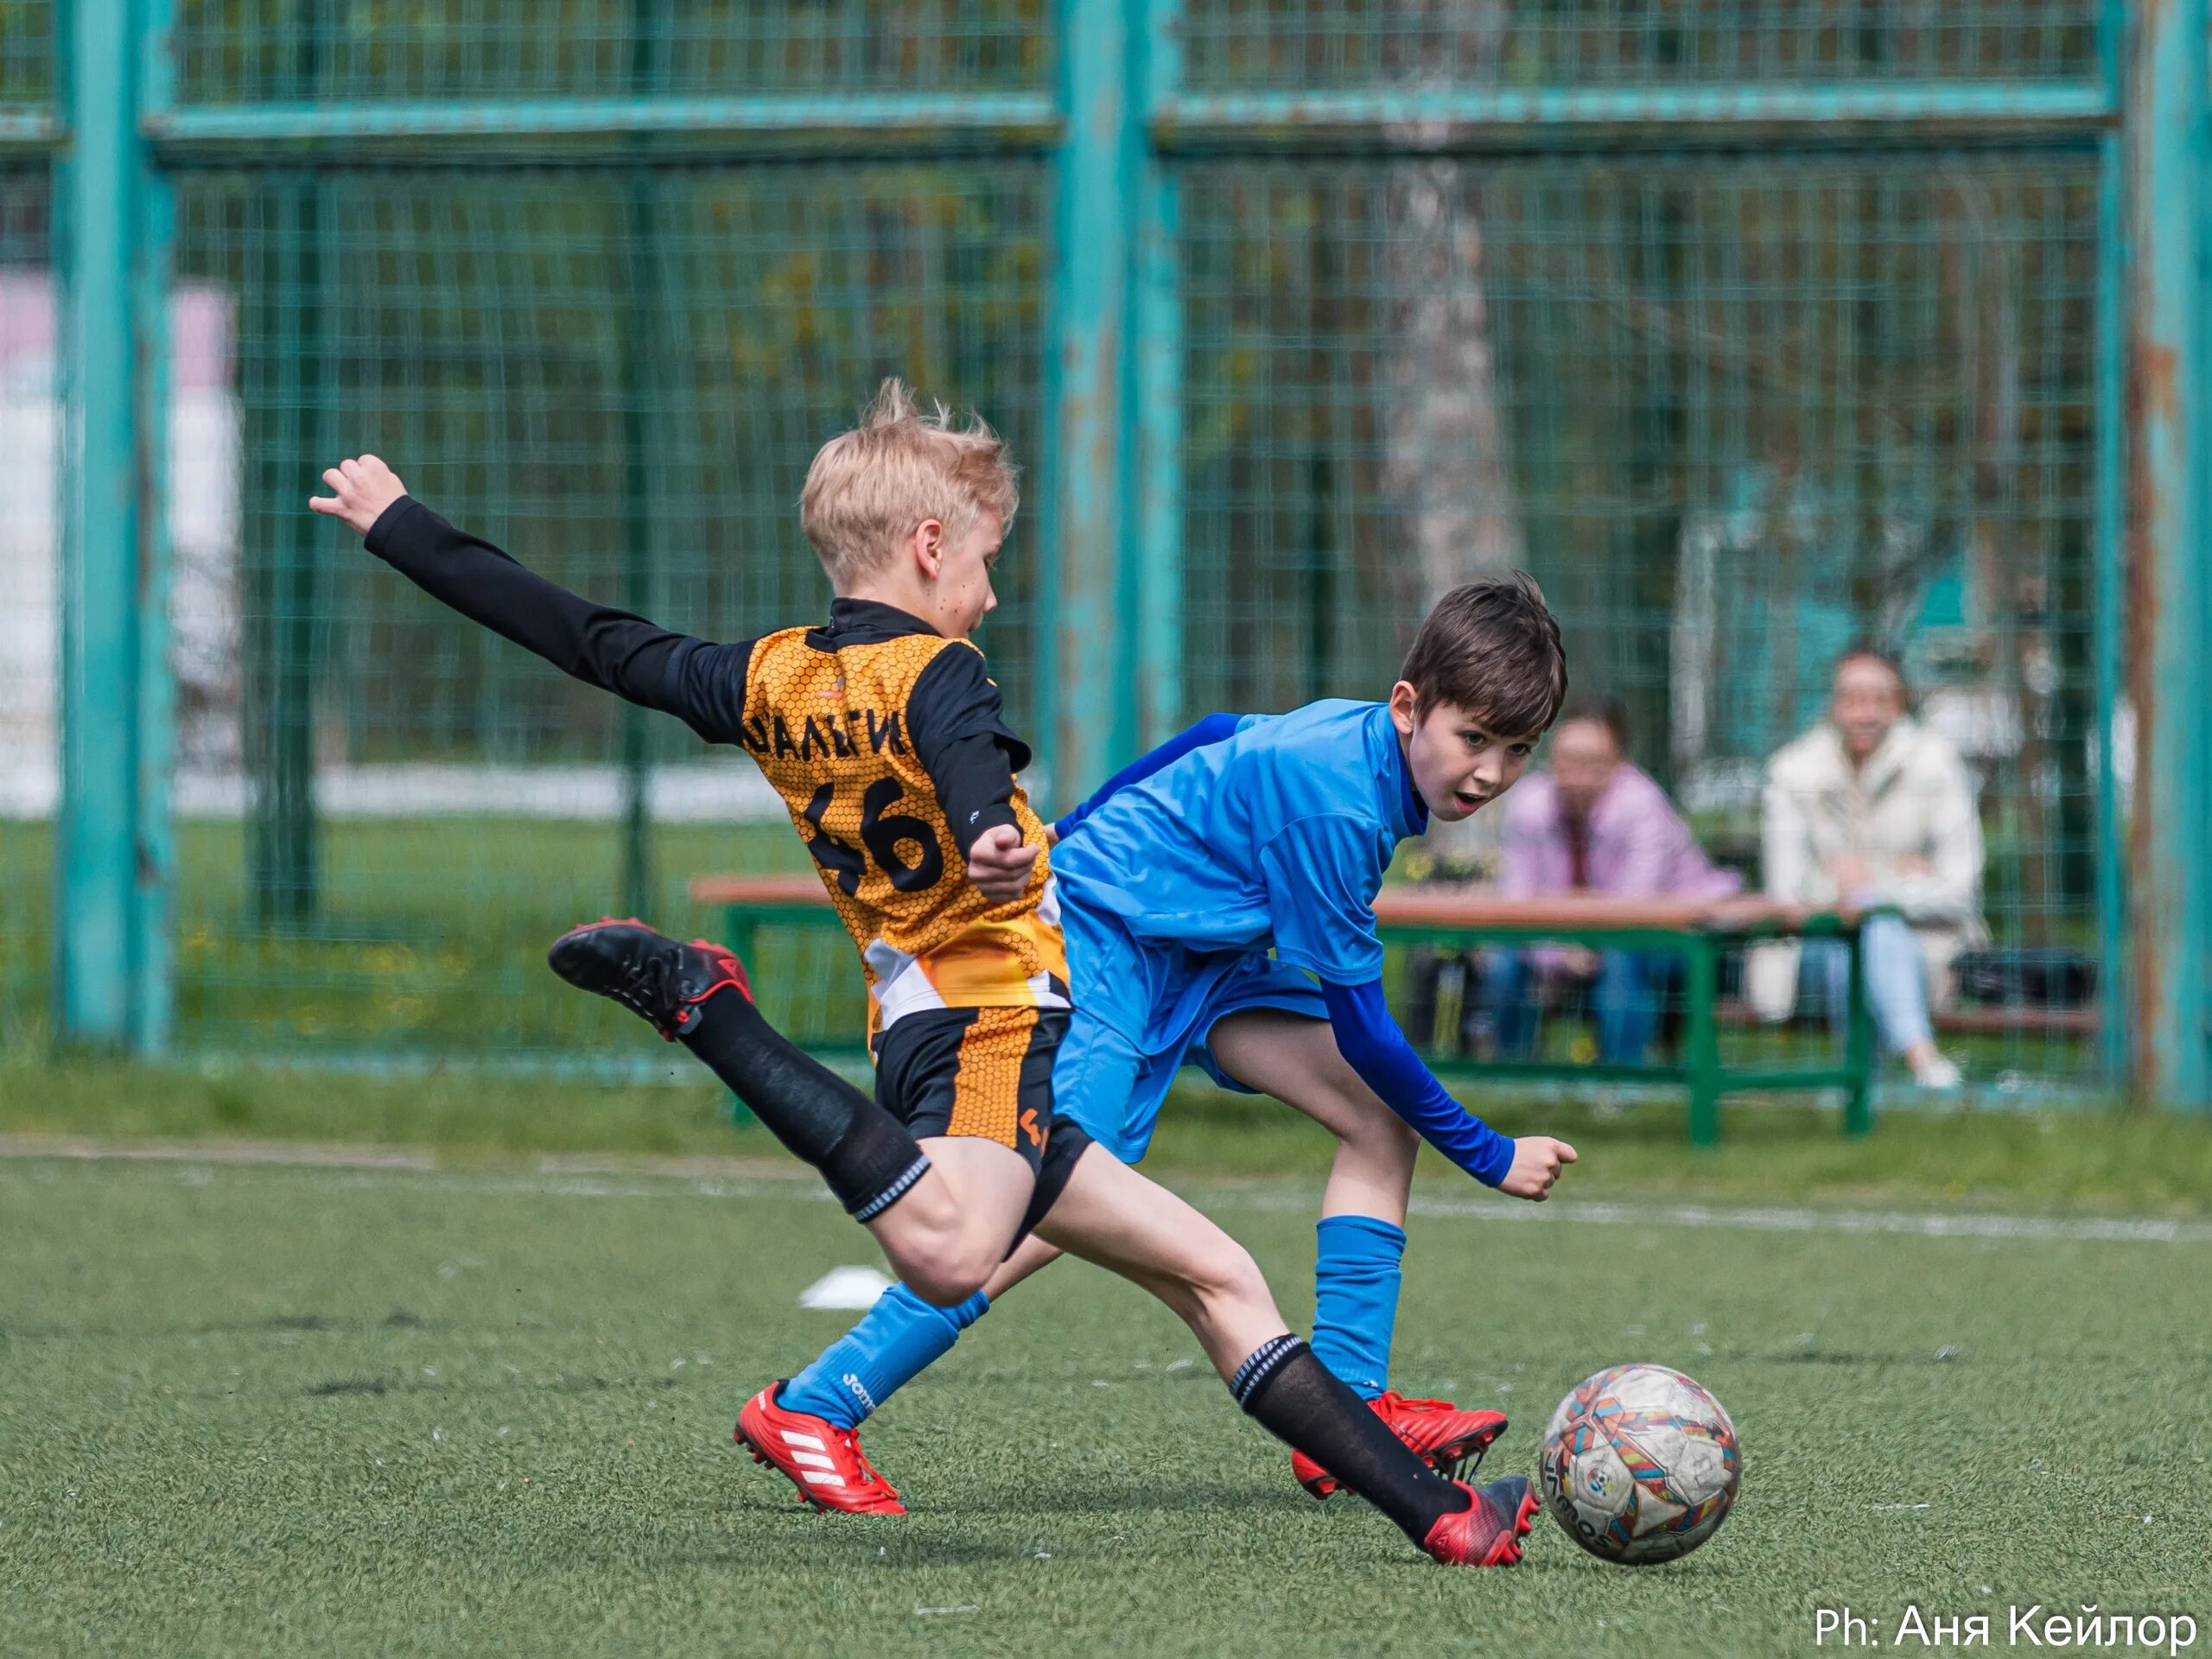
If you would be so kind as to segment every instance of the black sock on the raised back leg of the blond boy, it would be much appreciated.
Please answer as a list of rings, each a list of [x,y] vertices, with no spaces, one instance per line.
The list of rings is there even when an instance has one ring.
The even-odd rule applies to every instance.
[[[679,1042],[803,1157],[854,1221],[889,1210],[929,1157],[907,1126],[776,1031],[741,991],[697,1004]]]

